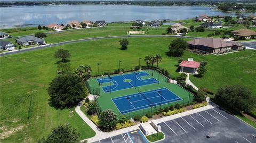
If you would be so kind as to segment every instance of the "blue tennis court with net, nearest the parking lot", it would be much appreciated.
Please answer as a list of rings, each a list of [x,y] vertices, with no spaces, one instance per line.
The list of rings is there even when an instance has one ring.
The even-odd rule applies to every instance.
[[[175,102],[177,100],[182,100],[179,96],[175,95],[172,91],[170,91],[167,88],[154,89],[154,90],[149,90],[141,93],[138,92],[137,94],[112,98],[112,100],[115,103],[116,107],[118,108],[119,112],[124,114],[124,113],[128,113],[129,111],[132,112],[132,111],[141,110],[143,108],[160,105],[161,95],[162,95],[162,104]],[[130,110],[130,106],[131,106],[131,110]]]

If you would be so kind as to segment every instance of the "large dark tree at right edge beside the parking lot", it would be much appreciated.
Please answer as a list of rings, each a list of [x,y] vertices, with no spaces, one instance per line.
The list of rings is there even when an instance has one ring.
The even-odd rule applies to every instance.
[[[250,112],[256,106],[256,97],[242,85],[219,88],[215,99],[238,112]]]

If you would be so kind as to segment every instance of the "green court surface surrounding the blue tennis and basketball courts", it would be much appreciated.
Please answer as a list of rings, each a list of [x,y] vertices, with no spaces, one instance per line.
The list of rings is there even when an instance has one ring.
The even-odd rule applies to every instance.
[[[138,94],[138,89],[141,92],[144,91],[148,91],[148,90],[154,90],[154,89],[159,89],[159,88],[167,88],[170,91],[172,91],[175,95],[179,96],[182,100],[177,100],[175,102],[171,102],[171,103],[166,103],[166,104],[162,104],[161,105],[157,105],[157,106],[152,106],[149,108],[144,108],[142,110],[137,110],[137,111],[132,111],[131,113],[125,113],[126,117],[134,117],[135,115],[146,115],[147,112],[151,112],[151,113],[156,113],[157,110],[159,110],[161,107],[162,109],[164,109],[166,106],[170,107],[171,105],[175,105],[176,103],[179,103],[180,106],[182,105],[188,105],[189,103],[193,102],[194,100],[194,95],[191,94],[189,91],[183,89],[181,86],[174,84],[174,83],[169,83],[166,81],[167,80],[166,77],[164,77],[164,75],[159,74],[158,72],[154,71],[154,70],[144,70],[145,72],[147,72],[150,76],[145,76],[148,78],[152,78],[151,74],[153,73],[153,77],[155,79],[158,80],[159,78],[159,83],[153,83],[150,85],[144,85],[144,86],[139,86],[139,87],[133,87],[133,88],[128,88],[128,89],[122,89],[122,90],[117,90],[114,92],[104,92],[102,90],[102,88],[99,86],[98,82],[97,82],[97,78],[91,78],[89,80],[87,80],[88,85],[90,85],[90,90],[91,92],[95,92],[95,90],[99,90],[99,94],[100,96],[97,98],[97,102],[99,103],[99,111],[104,111],[107,109],[111,109],[113,110],[118,116],[122,115],[118,108],[116,107],[115,103],[113,102],[112,98],[116,98],[116,97],[121,97],[121,96],[126,96],[126,95],[131,95],[131,94]],[[124,73],[127,74],[127,73]],[[118,74],[117,74],[118,75]],[[114,76],[114,75],[112,75]],[[159,77],[158,77],[159,76]],[[145,78],[143,76],[143,78]],[[109,85],[109,83],[108,83]]]

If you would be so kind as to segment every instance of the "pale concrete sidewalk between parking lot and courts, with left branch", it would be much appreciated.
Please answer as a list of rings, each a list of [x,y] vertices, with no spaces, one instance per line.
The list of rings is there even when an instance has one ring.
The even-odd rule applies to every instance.
[[[157,119],[156,122],[161,123],[161,122],[169,121],[169,120],[181,117],[181,116],[186,116],[189,114],[205,111],[205,110],[215,107],[214,104],[211,104],[210,98],[206,98],[206,100],[207,100],[207,102],[210,103],[207,106],[196,108],[194,110],[185,111],[185,112],[171,115],[171,116],[165,116],[165,117],[162,117],[161,119]],[[76,108],[75,108],[76,113],[96,132],[96,135],[94,137],[89,138],[89,139],[84,139],[84,140],[87,140],[88,142],[102,140],[105,138],[117,136],[118,134],[121,134],[121,133],[130,132],[130,131],[139,129],[139,124],[136,124],[136,125],[133,125],[132,127],[127,127],[127,128],[123,128],[123,129],[119,129],[119,130],[115,130],[115,131],[111,131],[111,132],[102,132],[98,129],[98,127],[91,120],[89,120],[87,118],[87,116],[84,115],[84,113],[80,110],[80,107],[81,107],[81,104],[76,106]],[[151,121],[146,122],[145,125],[150,124],[150,122]],[[82,140],[82,141],[84,141],[84,140]]]

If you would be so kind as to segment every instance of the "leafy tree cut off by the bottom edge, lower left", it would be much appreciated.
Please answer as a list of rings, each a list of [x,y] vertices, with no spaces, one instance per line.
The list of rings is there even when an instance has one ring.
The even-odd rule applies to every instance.
[[[51,133],[38,141],[38,143],[77,143],[79,142],[80,133],[69,125],[59,125],[53,128]]]

